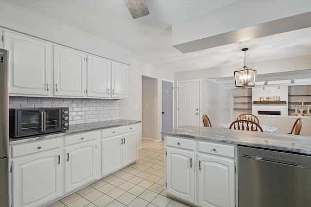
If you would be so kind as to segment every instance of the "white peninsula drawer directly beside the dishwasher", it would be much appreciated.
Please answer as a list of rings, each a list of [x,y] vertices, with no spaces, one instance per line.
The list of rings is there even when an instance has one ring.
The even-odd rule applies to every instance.
[[[199,152],[221,155],[230,158],[234,158],[234,149],[235,146],[229,146],[225,144],[217,144],[217,143],[205,143],[198,142],[199,144]]]

